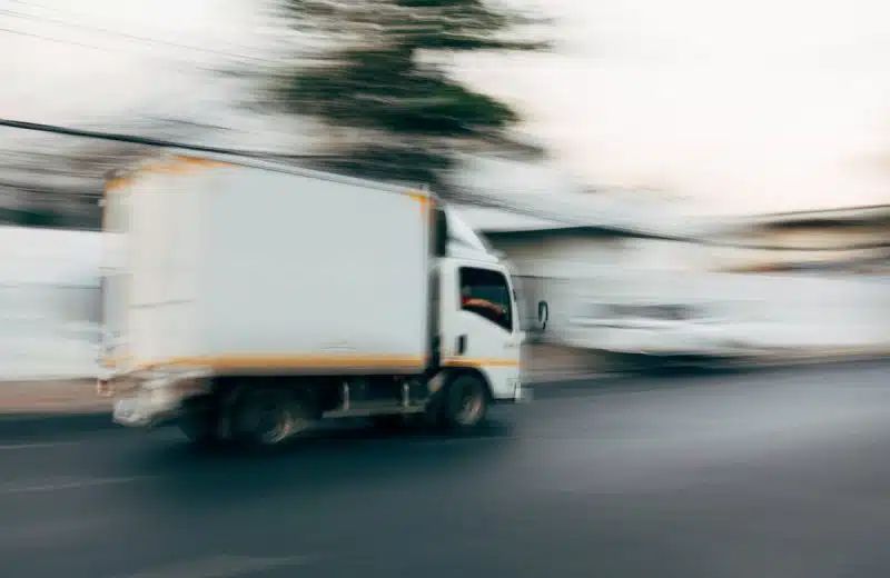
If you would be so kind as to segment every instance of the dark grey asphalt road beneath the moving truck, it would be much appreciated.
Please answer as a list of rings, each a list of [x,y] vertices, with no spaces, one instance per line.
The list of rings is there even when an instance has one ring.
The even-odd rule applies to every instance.
[[[477,437],[0,446],[3,578],[890,576],[890,365],[554,390]]]

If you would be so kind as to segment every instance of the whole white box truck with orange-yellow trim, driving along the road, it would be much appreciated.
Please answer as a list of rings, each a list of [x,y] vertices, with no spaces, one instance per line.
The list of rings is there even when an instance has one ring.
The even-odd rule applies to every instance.
[[[431,193],[167,153],[103,206],[118,423],[277,445],[328,417],[464,431],[527,397],[508,267]]]

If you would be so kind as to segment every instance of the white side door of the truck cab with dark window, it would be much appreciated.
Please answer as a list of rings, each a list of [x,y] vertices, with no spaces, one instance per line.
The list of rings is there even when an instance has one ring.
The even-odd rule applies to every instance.
[[[515,399],[523,333],[510,275],[491,263],[443,265],[443,365],[476,368],[488,380],[495,399]]]

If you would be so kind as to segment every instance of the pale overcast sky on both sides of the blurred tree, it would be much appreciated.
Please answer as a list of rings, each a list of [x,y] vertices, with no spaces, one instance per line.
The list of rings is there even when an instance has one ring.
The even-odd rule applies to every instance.
[[[890,2],[514,1],[561,20],[558,50],[474,56],[461,71],[527,113],[556,169],[591,186],[664,187],[704,212],[890,202],[890,165],[873,160],[890,151]],[[228,144],[261,146],[269,124],[222,121],[212,104],[225,82],[189,71],[214,63],[210,51],[261,57],[259,3],[0,0],[0,29],[20,32],[0,30],[0,73],[12,79],[2,117],[70,123],[168,109],[236,123],[253,138],[235,132]]]

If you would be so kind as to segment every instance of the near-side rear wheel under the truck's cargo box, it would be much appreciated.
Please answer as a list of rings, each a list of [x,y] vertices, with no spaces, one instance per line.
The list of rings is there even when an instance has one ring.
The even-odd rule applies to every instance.
[[[235,438],[253,447],[278,447],[313,422],[308,408],[286,390],[246,391],[233,411]]]

